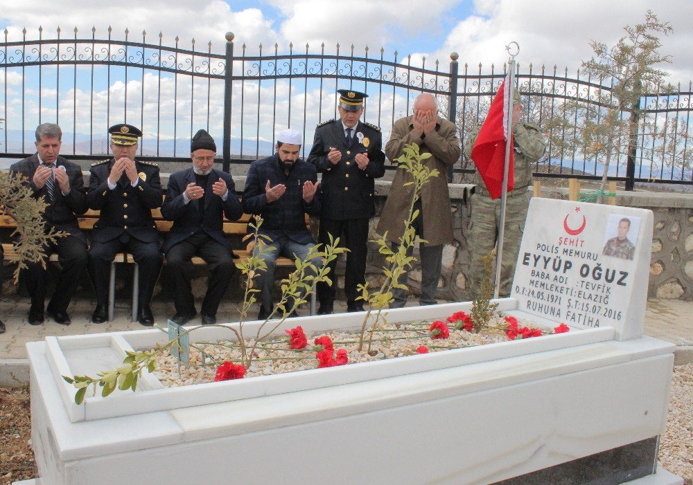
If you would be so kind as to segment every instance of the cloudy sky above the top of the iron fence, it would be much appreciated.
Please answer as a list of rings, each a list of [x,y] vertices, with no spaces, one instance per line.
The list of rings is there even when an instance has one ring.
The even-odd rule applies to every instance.
[[[0,28],[8,29],[10,39],[17,39],[23,27],[32,35],[40,25],[60,26],[69,35],[74,26],[103,32],[110,25],[137,34],[161,32],[164,43],[178,35],[182,46],[194,38],[220,49],[231,30],[248,46],[353,43],[357,51],[384,47],[386,53],[418,53],[441,62],[456,51],[470,65],[504,62],[505,45],[515,40],[521,64],[559,68],[576,68],[590,56],[590,39],[613,43],[623,26],[642,21],[652,9],[674,27],[663,41],[672,56],[667,66],[672,80],[693,77],[693,2],[688,0],[148,0],[127,9],[103,0],[3,3]]]

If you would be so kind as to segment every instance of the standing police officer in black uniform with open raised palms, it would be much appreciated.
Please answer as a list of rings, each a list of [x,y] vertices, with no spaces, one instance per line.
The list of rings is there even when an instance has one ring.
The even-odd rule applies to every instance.
[[[319,243],[326,244],[330,235],[337,238],[344,233],[342,241],[350,251],[344,272],[347,311],[362,311],[362,303],[356,300],[358,284],[365,283],[368,220],[375,212],[374,179],[385,174],[385,154],[380,128],[359,121],[367,95],[348,89],[337,92],[340,119],[317,126],[308,162],[322,173]],[[336,260],[329,266],[334,275]],[[332,313],[336,284],[333,277],[332,286],[317,285],[319,314]]]

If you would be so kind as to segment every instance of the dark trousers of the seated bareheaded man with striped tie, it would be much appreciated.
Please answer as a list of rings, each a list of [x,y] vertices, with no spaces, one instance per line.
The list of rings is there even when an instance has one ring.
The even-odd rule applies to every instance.
[[[67,311],[72,295],[77,289],[82,272],[87,267],[87,244],[74,236],[58,237],[55,243],[44,246],[48,264],[51,253],[58,253],[58,261],[62,266],[58,282],[55,284],[53,298],[49,302],[49,308],[53,312]],[[27,263],[24,270],[26,289],[31,297],[32,313],[43,313],[46,300],[46,270],[41,263]]]

